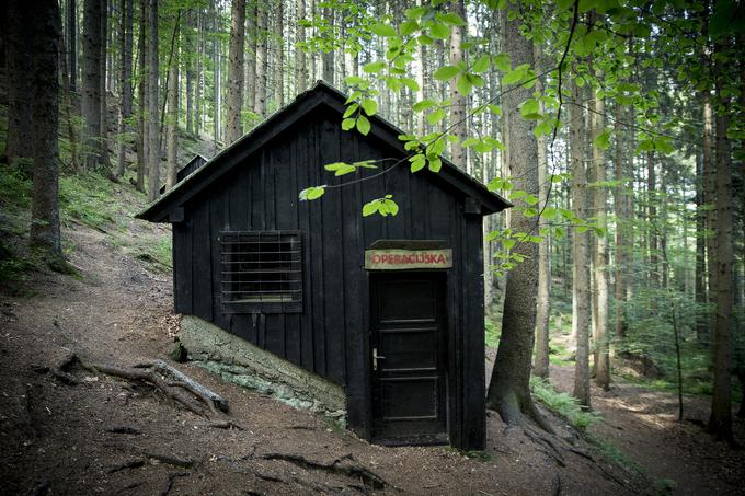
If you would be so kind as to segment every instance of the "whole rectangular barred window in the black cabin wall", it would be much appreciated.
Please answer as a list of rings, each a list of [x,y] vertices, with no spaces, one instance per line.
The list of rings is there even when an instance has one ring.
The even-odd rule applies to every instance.
[[[226,313],[302,311],[302,244],[298,231],[220,233]]]

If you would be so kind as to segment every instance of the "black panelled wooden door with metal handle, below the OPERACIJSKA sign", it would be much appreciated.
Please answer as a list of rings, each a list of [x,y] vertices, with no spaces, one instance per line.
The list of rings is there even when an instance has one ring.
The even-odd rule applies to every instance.
[[[445,274],[377,273],[370,284],[373,439],[447,442]]]

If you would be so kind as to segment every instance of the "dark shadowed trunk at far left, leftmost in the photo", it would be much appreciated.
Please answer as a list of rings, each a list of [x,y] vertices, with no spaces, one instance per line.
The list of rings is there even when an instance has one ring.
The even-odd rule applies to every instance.
[[[23,2],[8,3],[8,33],[5,36],[8,84],[8,137],[5,155],[9,164],[18,163],[32,175],[34,155],[32,140],[31,47],[27,25],[34,13]]]

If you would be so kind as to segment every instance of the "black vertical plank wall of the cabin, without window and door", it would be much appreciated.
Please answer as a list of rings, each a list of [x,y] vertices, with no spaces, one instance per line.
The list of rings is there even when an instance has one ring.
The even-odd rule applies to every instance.
[[[174,224],[175,309],[193,313],[346,388],[349,424],[369,432],[369,284],[364,250],[378,239],[439,239],[454,249],[448,270],[448,378],[451,442],[483,440],[483,326],[481,218],[463,215],[463,198],[445,183],[390,172],[352,186],[330,188],[322,199],[299,201],[309,185],[337,185],[369,175],[334,177],[323,164],[398,157],[398,151],[355,132],[339,116],[309,116],[203,192]],[[386,161],[383,166],[392,166]],[[362,217],[362,206],[383,194],[399,204],[397,217]],[[220,291],[221,230],[299,230],[302,233],[303,312],[224,314]],[[467,254],[467,255],[465,255]],[[462,288],[462,290],[461,290]],[[473,330],[477,330],[474,332]],[[473,440],[479,440],[475,445]]]

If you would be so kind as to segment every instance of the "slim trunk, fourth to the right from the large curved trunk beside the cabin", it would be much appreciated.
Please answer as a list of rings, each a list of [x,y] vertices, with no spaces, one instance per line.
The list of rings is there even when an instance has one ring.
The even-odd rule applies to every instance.
[[[628,188],[633,187],[624,184],[626,177],[626,165],[623,160],[626,143],[626,135],[623,134],[623,106],[616,104],[616,115],[615,115],[615,132],[616,132],[616,181],[618,186],[616,188],[616,194],[614,195],[614,206],[616,209],[616,337],[623,339],[626,337],[627,331],[627,318],[626,318],[626,287],[629,284],[627,274],[629,270],[629,255],[631,253],[631,246],[629,246],[628,232],[629,232],[629,212],[627,209],[627,196],[629,195]]]

